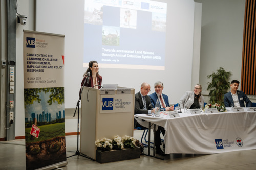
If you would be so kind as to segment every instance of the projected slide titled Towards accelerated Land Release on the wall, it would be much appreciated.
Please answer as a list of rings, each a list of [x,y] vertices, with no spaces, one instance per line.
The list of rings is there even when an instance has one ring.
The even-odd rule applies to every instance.
[[[91,0],[84,7],[83,66],[164,70],[167,4]]]

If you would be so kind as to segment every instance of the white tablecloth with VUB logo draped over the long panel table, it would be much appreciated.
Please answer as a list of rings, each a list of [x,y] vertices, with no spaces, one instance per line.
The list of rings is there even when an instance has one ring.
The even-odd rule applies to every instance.
[[[145,127],[148,122],[165,128],[165,153],[212,154],[256,149],[256,112],[225,112],[164,118],[134,115]],[[141,121],[141,120],[145,121]]]

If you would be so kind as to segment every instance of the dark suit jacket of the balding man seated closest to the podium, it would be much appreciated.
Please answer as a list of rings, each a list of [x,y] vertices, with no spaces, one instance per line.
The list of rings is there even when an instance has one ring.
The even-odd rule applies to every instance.
[[[150,103],[150,96],[146,95],[145,99],[146,99],[146,109],[147,110],[143,110],[144,105],[143,105],[143,100],[142,100],[140,92],[137,92],[135,94],[134,114],[147,114],[148,110],[151,110],[151,108],[154,108]],[[134,128],[136,128],[136,127],[142,127],[142,126],[137,123],[136,119],[134,119]]]

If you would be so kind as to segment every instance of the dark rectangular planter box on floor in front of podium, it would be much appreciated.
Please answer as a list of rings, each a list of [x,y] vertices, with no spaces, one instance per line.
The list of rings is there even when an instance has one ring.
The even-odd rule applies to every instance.
[[[96,161],[99,163],[108,163],[136,158],[140,158],[140,147],[104,152],[96,150]]]

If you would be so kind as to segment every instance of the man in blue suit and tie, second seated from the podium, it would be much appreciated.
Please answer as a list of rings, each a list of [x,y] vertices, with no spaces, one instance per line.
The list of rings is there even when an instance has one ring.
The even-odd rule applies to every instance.
[[[163,83],[162,82],[156,82],[154,84],[155,92],[150,94],[150,101],[153,107],[156,106],[157,99],[160,104],[160,109],[163,109],[164,111],[174,110],[174,106],[170,107],[168,96],[163,94]]]

